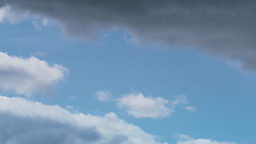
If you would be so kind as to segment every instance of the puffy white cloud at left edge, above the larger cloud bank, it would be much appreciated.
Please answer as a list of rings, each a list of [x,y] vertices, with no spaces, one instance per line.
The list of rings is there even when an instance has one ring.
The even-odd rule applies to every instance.
[[[0,88],[30,97],[49,95],[68,69],[59,64],[49,65],[36,57],[22,58],[0,52]]]

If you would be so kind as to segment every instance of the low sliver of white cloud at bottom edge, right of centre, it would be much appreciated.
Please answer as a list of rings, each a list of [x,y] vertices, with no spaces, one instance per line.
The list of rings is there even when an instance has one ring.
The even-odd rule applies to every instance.
[[[178,135],[177,144],[237,144],[236,142],[216,141],[210,139],[194,139],[188,135]]]

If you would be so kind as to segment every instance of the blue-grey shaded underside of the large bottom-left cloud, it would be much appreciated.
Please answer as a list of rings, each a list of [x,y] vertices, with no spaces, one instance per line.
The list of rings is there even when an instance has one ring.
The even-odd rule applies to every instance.
[[[77,128],[49,119],[0,113],[0,143],[92,143],[101,139],[95,128]]]

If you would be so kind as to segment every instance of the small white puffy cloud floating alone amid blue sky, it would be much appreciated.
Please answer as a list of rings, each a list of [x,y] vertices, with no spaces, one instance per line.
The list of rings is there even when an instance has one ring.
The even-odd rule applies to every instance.
[[[188,103],[185,95],[176,95],[175,100],[169,101],[161,97],[144,97],[140,92],[124,94],[115,99],[117,106],[125,109],[127,113],[135,118],[162,118],[170,116],[176,105]]]

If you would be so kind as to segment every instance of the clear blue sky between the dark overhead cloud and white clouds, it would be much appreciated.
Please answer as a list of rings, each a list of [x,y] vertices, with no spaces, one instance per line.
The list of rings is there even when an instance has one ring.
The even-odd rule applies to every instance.
[[[176,141],[173,135],[177,133],[218,141],[256,142],[256,77],[221,59],[189,48],[133,45],[124,39],[124,35],[129,35],[124,31],[99,32],[97,41],[63,36],[56,25],[35,31],[31,21],[1,24],[0,31],[2,52],[22,57],[45,52],[39,59],[69,69],[53,97],[35,100],[62,107],[72,105],[79,112],[94,115],[115,112],[169,143]],[[118,110],[114,101],[101,103],[93,96],[98,90],[106,90],[113,97],[120,97],[132,89],[168,100],[185,94],[189,105],[200,111],[191,113],[180,105],[170,117],[136,119]]]

